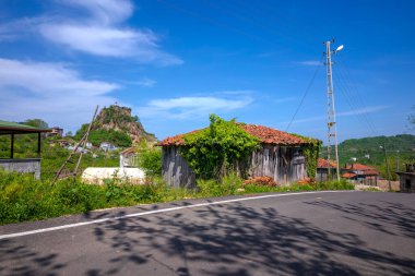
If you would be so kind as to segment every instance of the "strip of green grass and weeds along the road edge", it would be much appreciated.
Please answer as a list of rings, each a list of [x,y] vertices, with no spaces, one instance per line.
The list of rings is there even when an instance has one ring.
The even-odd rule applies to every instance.
[[[68,214],[80,214],[93,209],[116,206],[132,206],[143,203],[170,202],[183,199],[226,196],[264,192],[353,190],[345,181],[315,184],[268,187],[244,184],[236,176],[198,181],[197,190],[174,189],[159,178],[147,184],[132,185],[108,179],[104,185],[84,184],[79,180],[62,180],[51,185],[50,181],[34,180],[31,176],[0,171],[0,225],[25,220],[38,220]]]

